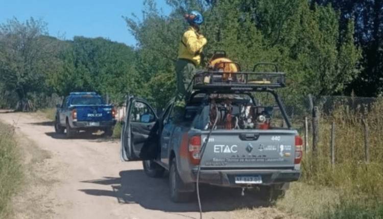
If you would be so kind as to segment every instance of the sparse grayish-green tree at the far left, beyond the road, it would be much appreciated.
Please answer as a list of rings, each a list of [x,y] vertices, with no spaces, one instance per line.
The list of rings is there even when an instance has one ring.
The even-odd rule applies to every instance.
[[[0,79],[6,91],[17,94],[16,109],[33,109],[32,96],[50,92],[45,80],[57,70],[57,51],[58,40],[47,35],[42,20],[0,24]]]

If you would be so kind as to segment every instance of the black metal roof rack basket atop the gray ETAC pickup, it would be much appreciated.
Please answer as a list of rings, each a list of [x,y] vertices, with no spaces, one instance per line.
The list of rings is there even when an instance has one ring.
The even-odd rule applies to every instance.
[[[275,72],[255,72],[260,65],[273,65]],[[193,77],[192,84],[193,90],[251,92],[284,87],[285,74],[279,72],[274,63],[257,63],[253,72],[200,71]]]

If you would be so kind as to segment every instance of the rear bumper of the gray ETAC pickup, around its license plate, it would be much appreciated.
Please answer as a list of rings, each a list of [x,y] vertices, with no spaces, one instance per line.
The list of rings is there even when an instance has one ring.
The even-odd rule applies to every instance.
[[[274,170],[274,169],[261,169],[261,170],[201,170],[200,182],[212,185],[229,186],[229,187],[242,187],[244,184],[236,184],[236,176],[261,176],[262,184],[271,185],[294,182],[299,179],[301,175],[300,170]],[[193,180],[197,179],[197,170],[192,171]]]

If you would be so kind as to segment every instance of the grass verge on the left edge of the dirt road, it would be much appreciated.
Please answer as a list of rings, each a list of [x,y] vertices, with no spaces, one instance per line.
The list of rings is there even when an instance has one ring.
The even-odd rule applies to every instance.
[[[22,183],[22,167],[14,128],[0,123],[0,218],[8,218],[10,202]]]

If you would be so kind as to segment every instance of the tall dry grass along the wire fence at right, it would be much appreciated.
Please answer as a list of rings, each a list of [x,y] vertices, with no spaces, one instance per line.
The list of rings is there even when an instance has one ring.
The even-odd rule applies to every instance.
[[[383,100],[368,114],[338,107],[322,116],[317,156],[308,153],[300,183],[277,206],[308,218],[383,218]],[[370,162],[365,162],[365,118]],[[330,163],[331,122],[336,124],[334,167]]]

